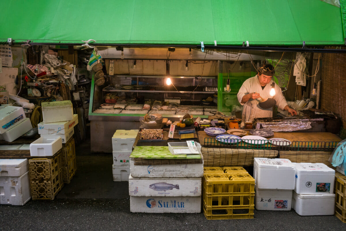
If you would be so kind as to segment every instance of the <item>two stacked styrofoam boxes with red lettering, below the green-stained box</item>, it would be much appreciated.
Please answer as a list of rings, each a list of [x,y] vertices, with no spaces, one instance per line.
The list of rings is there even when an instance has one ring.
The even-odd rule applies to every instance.
[[[63,118],[61,118],[63,119]],[[69,121],[56,121],[51,123],[41,122],[38,124],[38,134],[41,137],[56,135],[60,136],[62,143],[67,143],[74,134],[74,126],[78,124],[78,115],[74,114]]]

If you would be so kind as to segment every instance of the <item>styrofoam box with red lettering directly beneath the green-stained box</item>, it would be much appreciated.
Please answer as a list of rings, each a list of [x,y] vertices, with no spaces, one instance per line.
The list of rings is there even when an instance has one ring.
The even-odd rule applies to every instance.
[[[78,124],[78,115],[74,114],[70,121],[58,121],[52,123],[39,123],[38,134],[65,134]]]

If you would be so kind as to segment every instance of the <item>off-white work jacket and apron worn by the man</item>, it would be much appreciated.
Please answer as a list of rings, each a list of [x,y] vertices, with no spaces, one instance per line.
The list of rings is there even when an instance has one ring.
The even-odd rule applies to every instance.
[[[244,121],[252,122],[254,118],[273,117],[273,108],[264,109],[258,105],[258,103],[260,103],[261,101],[261,98],[249,99],[249,101],[247,101],[245,104],[242,104],[242,98],[246,94],[257,92],[262,98],[273,98],[276,100],[276,106],[281,110],[283,110],[283,108],[287,105],[286,99],[282,95],[281,88],[277,84],[275,84],[276,94],[273,97],[270,96],[269,92],[272,89],[271,84],[273,82],[274,81],[271,80],[262,90],[257,75],[244,81],[237,94],[239,103],[241,105],[244,105],[242,114],[242,119]]]

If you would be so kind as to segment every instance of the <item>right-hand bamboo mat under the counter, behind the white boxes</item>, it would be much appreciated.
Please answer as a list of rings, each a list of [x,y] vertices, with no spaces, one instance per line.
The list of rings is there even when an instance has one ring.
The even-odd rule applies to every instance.
[[[296,163],[324,163],[329,168],[336,169],[328,161],[333,151],[280,151],[279,157]]]

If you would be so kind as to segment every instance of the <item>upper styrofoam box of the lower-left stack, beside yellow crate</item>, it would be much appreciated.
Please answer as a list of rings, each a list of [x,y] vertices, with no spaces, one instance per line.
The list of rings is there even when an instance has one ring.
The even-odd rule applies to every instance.
[[[28,159],[0,159],[0,177],[19,177],[29,171]]]

